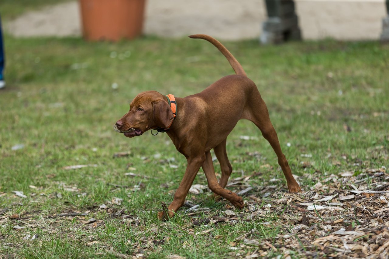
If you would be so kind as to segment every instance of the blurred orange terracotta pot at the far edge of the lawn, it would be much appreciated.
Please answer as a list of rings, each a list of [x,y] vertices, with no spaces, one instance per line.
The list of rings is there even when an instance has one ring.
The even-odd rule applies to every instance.
[[[117,41],[142,33],[145,0],[79,0],[86,40]]]

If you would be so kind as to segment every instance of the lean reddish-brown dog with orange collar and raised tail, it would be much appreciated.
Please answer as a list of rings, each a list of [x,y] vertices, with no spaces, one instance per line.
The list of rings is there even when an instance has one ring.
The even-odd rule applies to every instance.
[[[164,216],[162,211],[158,213],[158,218],[167,220],[167,216],[174,216],[184,203],[200,167],[215,196],[226,198],[237,208],[244,207],[242,197],[224,189],[232,172],[226,153],[226,139],[240,119],[252,121],[269,141],[277,154],[289,191],[301,191],[281,151],[266,104],[254,82],[247,78],[242,66],[220,42],[203,34],[189,37],[202,38],[215,45],[228,59],[236,75],[224,76],[202,92],[184,98],[174,99],[172,95],[163,96],[156,91],[142,92],[131,102],[130,111],[114,125],[114,129],[126,137],[140,136],[151,129],[165,131],[187,159],[184,178],[168,207],[168,215],[165,212]],[[210,154],[212,148],[221,167],[219,183]]]

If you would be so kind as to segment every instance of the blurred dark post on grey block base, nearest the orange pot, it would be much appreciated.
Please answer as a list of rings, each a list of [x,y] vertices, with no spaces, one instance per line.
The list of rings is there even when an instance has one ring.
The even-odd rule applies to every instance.
[[[262,23],[260,41],[274,44],[288,40],[301,40],[298,17],[293,0],[265,0],[268,19]]]

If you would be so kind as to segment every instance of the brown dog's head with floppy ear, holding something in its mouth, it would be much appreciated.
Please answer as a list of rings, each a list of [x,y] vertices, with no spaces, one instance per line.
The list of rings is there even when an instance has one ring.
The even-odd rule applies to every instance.
[[[174,119],[165,97],[156,91],[138,94],[130,104],[130,111],[114,124],[116,132],[126,137],[142,135],[150,129],[167,129]]]

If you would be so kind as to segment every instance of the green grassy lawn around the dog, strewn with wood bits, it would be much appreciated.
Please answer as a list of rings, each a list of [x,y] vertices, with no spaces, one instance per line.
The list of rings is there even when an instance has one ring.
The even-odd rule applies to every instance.
[[[315,184],[324,184],[331,174],[388,167],[389,45],[333,40],[279,46],[260,46],[257,40],[223,43],[257,84],[302,189],[316,190]],[[234,169],[230,182],[236,183],[229,189],[251,186],[243,195],[250,206],[266,210],[270,203],[276,208],[250,220],[249,209],[215,202],[205,191],[187,196],[188,204],[200,210],[186,213],[189,204],[171,221],[158,221],[160,203],[172,201],[186,160],[166,134],[147,132],[128,139],[112,129],[141,91],[183,97],[233,73],[210,43],[154,37],[89,43],[5,35],[5,50],[0,255],[285,256],[285,250],[263,244],[277,243],[277,236],[294,228],[279,221],[289,205],[273,202],[287,191],[286,181],[272,148],[251,122],[240,121],[227,141]],[[114,157],[119,152],[127,156]],[[88,167],[67,169],[71,165]],[[217,162],[215,169],[219,174]],[[242,175],[254,176],[246,181]],[[194,184],[207,185],[202,171]],[[227,209],[236,214],[228,222],[192,222],[223,217]],[[70,212],[84,214],[60,216]],[[96,221],[89,224],[91,218]],[[242,235],[259,245],[248,244]],[[288,251],[303,257],[297,248]]]

